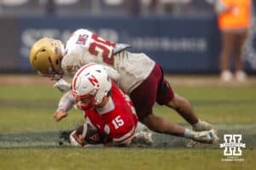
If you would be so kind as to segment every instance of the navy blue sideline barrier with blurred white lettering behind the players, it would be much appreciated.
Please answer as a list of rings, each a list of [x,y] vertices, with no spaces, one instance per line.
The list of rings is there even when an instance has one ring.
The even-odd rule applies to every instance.
[[[67,41],[79,28],[95,31],[113,42],[131,44],[131,51],[148,54],[172,73],[218,72],[220,36],[214,15],[204,16],[21,16],[0,18],[10,23],[1,37],[10,47],[2,48],[0,71],[32,71],[29,49],[41,37]],[[256,32],[255,32],[256,34]],[[256,37],[256,36],[255,36]],[[256,39],[256,38],[255,38]],[[256,43],[250,39],[246,70],[256,72]],[[3,43],[3,41],[2,41]],[[256,54],[256,53],[255,53]],[[3,65],[8,56],[11,64]],[[256,55],[255,55],[256,56]]]

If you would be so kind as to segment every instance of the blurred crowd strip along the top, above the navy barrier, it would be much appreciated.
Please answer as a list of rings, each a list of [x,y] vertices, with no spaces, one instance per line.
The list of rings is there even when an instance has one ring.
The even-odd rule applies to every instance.
[[[0,14],[207,14],[211,0],[0,0]]]

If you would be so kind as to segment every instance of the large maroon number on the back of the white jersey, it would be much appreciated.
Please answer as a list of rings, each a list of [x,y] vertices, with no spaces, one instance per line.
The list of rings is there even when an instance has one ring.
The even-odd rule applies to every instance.
[[[111,49],[114,47],[115,44],[113,42],[103,40],[96,34],[92,34],[91,38],[94,40],[94,42],[90,43],[90,54],[98,56],[99,52],[102,51],[103,61],[108,65],[113,65],[113,54]]]

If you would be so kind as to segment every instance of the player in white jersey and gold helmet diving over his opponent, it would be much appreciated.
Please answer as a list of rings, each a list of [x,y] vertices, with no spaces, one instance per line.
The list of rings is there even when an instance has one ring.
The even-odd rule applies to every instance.
[[[55,88],[66,92],[71,89],[71,85],[61,78],[63,75],[73,77],[81,66],[90,62],[105,65],[108,76],[130,95],[139,121],[154,132],[182,137],[189,137],[193,133],[176,123],[154,115],[155,102],[177,111],[195,131],[212,129],[211,124],[202,122],[195,115],[187,99],[172,90],[160,65],[146,54],[128,52],[126,50],[128,47],[126,44],[104,40],[91,31],[79,29],[68,39],[66,48],[61,41],[47,37],[35,42],[30,53],[30,63],[39,74],[55,79],[57,81]],[[62,114],[61,112],[67,111],[70,107],[70,95],[67,93],[62,96],[57,114]],[[199,137],[197,140],[206,143],[218,141],[213,130],[207,136],[211,140],[205,140],[205,137]]]

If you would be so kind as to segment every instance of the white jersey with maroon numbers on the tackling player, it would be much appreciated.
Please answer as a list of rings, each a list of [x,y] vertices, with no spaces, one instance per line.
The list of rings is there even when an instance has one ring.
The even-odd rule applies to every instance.
[[[107,65],[119,74],[114,75],[115,71],[107,67],[110,77],[126,94],[130,94],[148,77],[155,63],[146,54],[132,54],[125,50],[113,54],[115,47],[114,42],[106,41],[91,31],[79,29],[67,41],[61,61],[62,70],[73,77],[80,67],[90,62]]]

